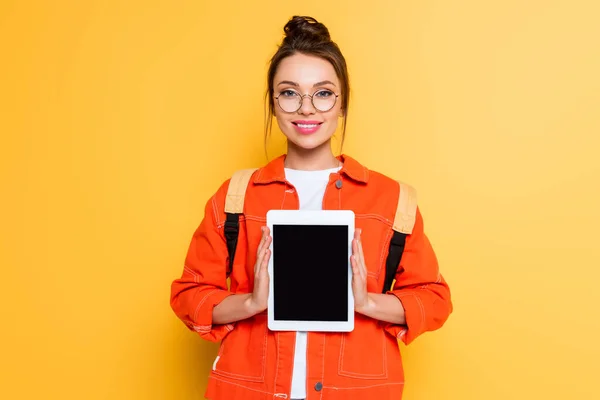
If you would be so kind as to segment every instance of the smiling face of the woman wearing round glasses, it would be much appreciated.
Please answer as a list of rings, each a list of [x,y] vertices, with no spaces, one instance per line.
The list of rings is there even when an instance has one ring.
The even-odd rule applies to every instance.
[[[317,108],[305,95],[313,96]],[[283,59],[273,79],[273,96],[278,97],[273,99],[275,117],[288,145],[304,150],[329,145],[342,116],[340,82],[329,61],[304,54]],[[300,96],[305,97],[295,110]],[[331,109],[321,111],[334,101]]]

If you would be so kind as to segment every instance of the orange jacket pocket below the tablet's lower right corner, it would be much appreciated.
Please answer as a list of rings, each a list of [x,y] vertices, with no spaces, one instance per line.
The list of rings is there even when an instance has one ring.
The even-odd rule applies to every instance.
[[[359,379],[387,378],[386,337],[380,324],[356,316],[354,330],[342,334],[338,373]]]

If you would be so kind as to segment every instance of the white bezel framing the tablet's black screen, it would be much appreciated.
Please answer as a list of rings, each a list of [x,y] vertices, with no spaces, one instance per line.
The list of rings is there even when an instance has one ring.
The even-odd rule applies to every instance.
[[[270,210],[267,212],[267,226],[272,235],[269,247],[273,255],[273,244],[277,238],[273,235],[274,225],[345,225],[348,227],[348,316],[346,321],[281,321],[275,320],[273,263],[269,259],[269,297],[268,297],[268,327],[272,331],[303,331],[303,332],[350,332],[354,329],[354,294],[352,292],[352,239],[354,237],[355,215],[351,210]],[[307,288],[307,295],[309,289]]]

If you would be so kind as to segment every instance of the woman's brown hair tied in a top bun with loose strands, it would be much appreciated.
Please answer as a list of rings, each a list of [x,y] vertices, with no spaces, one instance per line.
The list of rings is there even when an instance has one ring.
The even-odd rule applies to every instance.
[[[329,61],[335,70],[341,85],[340,97],[343,112],[341,149],[346,136],[346,119],[350,103],[350,80],[346,59],[338,45],[331,40],[327,27],[312,17],[294,16],[285,24],[283,31],[285,37],[273,57],[271,57],[267,73],[267,91],[265,93],[265,152],[267,149],[267,139],[271,134],[273,117],[275,116],[273,79],[281,61],[297,53],[320,57]]]

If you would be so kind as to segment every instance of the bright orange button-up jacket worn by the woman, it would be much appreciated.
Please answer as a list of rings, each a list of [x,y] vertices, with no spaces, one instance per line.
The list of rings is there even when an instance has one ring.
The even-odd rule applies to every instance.
[[[284,158],[258,169],[250,180],[229,290],[223,229],[229,180],[207,202],[183,274],[171,287],[171,307],[187,327],[204,339],[221,341],[209,375],[209,399],[289,399],[294,332],[270,331],[266,312],[233,324],[212,324],[215,305],[232,293],[252,291],[256,249],[267,211],[299,207],[293,186],[285,180]],[[400,185],[348,156],[340,156],[340,160],[343,167],[330,177],[323,208],[354,211],[356,227],[362,229],[367,289],[381,293]],[[339,179],[342,185],[336,185]],[[422,333],[440,328],[452,312],[450,291],[438,270],[418,208],[394,288],[388,293],[402,302],[406,326],[357,313],[352,332],[308,333],[307,400],[400,399],[404,373],[397,339],[408,344]]]

